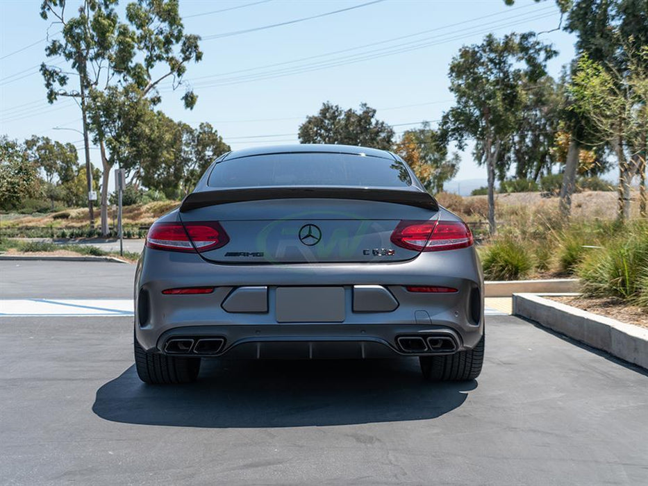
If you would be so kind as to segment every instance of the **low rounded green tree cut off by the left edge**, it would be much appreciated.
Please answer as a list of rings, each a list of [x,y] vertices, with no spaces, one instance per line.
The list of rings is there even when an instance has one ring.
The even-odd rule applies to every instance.
[[[24,145],[0,137],[0,209],[15,208],[39,189],[38,169],[28,160]]]

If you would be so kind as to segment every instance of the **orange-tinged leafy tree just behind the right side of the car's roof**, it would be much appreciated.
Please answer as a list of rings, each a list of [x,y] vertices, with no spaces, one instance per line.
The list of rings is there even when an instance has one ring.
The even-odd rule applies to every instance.
[[[406,131],[394,146],[394,152],[408,163],[429,192],[441,192],[444,183],[459,170],[459,154],[448,157],[446,144],[428,124]]]

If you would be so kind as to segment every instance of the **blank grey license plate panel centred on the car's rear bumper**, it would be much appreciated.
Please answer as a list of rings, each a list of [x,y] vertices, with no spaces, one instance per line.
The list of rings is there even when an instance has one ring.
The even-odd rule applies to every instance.
[[[344,287],[277,287],[277,322],[344,321]]]

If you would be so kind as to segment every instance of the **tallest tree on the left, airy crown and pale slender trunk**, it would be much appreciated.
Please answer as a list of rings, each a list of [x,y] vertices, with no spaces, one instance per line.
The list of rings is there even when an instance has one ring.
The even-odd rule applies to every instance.
[[[45,49],[48,57],[62,56],[72,67],[78,84],[70,84],[64,67],[43,63],[40,71],[47,87],[50,103],[58,97],[78,99],[83,117],[86,117],[103,100],[97,93],[110,87],[129,90],[147,98],[153,105],[161,101],[158,85],[172,78],[175,90],[183,84],[182,78],[190,61],[202,58],[199,37],[187,35],[178,12],[177,0],[138,0],[126,5],[125,22],[119,19],[117,0],[83,0],[76,17],[67,17],[65,0],[44,0],[41,17],[53,16],[62,25],[62,39],[51,40]],[[75,88],[74,86],[78,86]],[[89,99],[93,104],[89,105]],[[186,108],[193,108],[197,97],[186,90],[182,97]],[[108,233],[108,177],[110,156],[106,152],[103,132],[94,126],[95,142],[99,144],[103,167],[101,184],[101,231]],[[88,135],[85,133],[85,152],[89,165]],[[90,185],[90,172],[88,172]]]

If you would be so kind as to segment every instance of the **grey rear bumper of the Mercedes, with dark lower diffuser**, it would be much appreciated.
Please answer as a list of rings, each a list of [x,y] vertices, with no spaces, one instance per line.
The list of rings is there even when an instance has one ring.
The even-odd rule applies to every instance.
[[[266,312],[224,309],[232,290],[250,285],[267,287]],[[276,321],[276,288],[309,285],[344,287],[342,322]],[[354,285],[382,285],[397,300],[397,308],[354,312]],[[447,286],[458,292],[416,294],[405,285]],[[190,286],[215,290],[204,295],[162,294],[168,288]],[[472,248],[424,253],[400,263],[327,265],[215,265],[192,253],[145,249],[135,276],[135,310],[135,337],[147,351],[160,353],[174,337],[218,337],[224,345],[210,355],[226,358],[429,355],[431,349],[404,352],[397,338],[448,336],[456,343],[454,351],[472,349],[483,335],[483,278]]]

